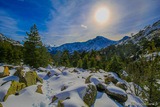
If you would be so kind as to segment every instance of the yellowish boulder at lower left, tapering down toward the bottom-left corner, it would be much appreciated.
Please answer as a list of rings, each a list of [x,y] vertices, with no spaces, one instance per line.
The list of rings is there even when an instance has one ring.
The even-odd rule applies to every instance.
[[[12,81],[12,83],[10,85],[10,88],[7,91],[7,94],[4,97],[4,101],[6,101],[6,99],[8,98],[9,95],[17,94],[17,93],[19,93],[20,90],[22,90],[25,87],[26,87],[26,85],[24,83],[19,83],[17,81]]]

